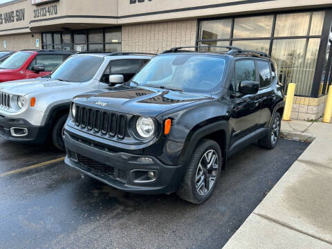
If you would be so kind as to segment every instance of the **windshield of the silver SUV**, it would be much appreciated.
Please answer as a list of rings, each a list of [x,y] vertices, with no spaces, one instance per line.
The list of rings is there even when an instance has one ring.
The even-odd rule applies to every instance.
[[[50,78],[66,82],[87,82],[93,78],[104,59],[91,55],[79,55],[66,59],[53,71]]]

